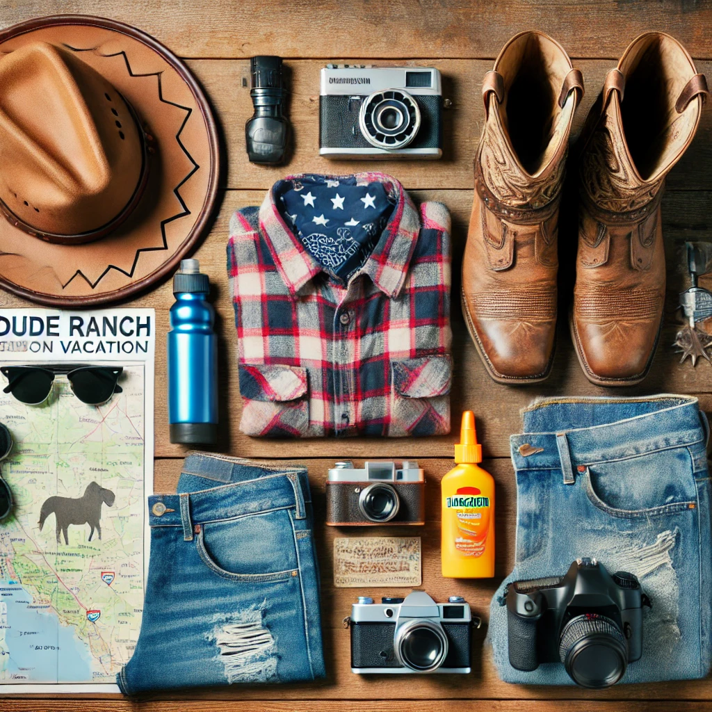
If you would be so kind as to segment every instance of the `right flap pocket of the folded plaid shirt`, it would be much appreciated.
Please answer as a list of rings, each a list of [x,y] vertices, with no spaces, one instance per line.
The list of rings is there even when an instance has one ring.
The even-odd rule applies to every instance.
[[[447,435],[450,432],[450,356],[391,362],[389,436]]]

